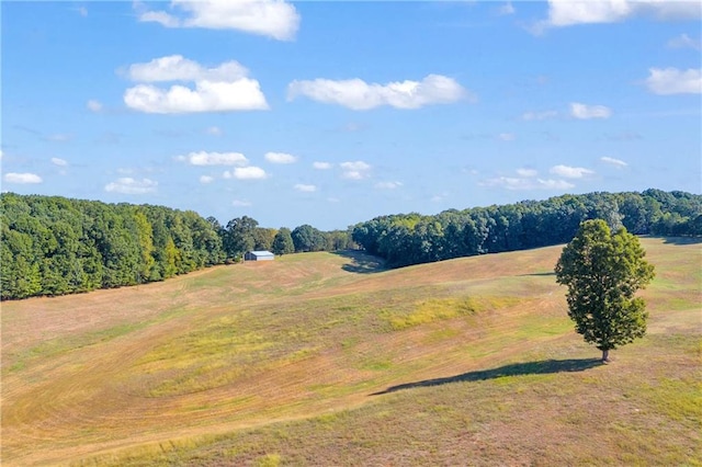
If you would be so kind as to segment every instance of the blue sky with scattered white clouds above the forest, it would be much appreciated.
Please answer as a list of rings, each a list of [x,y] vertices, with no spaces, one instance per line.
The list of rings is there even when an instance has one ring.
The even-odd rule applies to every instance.
[[[701,191],[699,2],[7,2],[2,191],[344,229]]]

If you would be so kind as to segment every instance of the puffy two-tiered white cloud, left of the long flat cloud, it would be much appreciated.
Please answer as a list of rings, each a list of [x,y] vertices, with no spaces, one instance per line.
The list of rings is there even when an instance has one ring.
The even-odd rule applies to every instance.
[[[129,66],[127,78],[140,83],[124,92],[124,103],[136,111],[156,114],[269,109],[259,82],[247,75],[248,70],[237,61],[205,68],[181,55],[156,58]],[[192,81],[194,88],[146,84],[165,81]]]

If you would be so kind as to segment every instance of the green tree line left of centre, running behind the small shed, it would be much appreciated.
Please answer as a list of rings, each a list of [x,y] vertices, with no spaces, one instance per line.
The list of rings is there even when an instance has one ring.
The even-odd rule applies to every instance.
[[[3,300],[163,281],[239,261],[253,249],[285,254],[352,246],[348,231],[261,228],[247,216],[223,227],[163,206],[2,193],[0,209]]]

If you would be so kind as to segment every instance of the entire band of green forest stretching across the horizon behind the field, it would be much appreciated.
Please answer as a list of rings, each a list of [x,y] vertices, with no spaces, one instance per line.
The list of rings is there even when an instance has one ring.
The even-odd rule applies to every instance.
[[[659,190],[382,216],[327,232],[309,225],[262,228],[248,216],[222,226],[192,210],[13,193],[0,195],[0,209],[3,300],[162,281],[240,261],[250,250],[361,247],[404,266],[565,243],[593,218],[636,235],[702,235],[702,196]]]

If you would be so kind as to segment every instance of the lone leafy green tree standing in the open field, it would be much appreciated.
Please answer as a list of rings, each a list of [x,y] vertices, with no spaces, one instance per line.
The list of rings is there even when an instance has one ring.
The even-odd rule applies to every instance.
[[[568,286],[568,316],[585,341],[602,351],[602,362],[610,350],[646,333],[646,304],[634,298],[654,277],[645,254],[625,228],[612,235],[604,220],[586,220],[556,264],[556,281]]]

